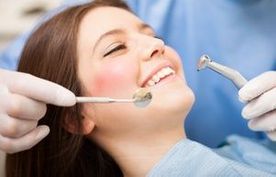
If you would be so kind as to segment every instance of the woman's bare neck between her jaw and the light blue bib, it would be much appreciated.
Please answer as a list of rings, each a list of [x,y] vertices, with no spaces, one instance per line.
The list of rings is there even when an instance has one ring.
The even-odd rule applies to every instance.
[[[147,137],[142,136],[142,138],[137,137],[127,141],[117,140],[116,143],[111,143],[109,153],[118,163],[125,177],[146,176],[168,150],[185,137],[181,126],[179,129],[156,132]]]

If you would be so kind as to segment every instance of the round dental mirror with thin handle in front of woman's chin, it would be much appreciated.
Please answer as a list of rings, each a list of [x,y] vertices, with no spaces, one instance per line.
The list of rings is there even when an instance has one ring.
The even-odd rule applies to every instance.
[[[132,99],[115,99],[109,97],[76,97],[77,103],[134,103],[137,107],[146,107],[152,99],[152,94],[145,88],[138,89]]]

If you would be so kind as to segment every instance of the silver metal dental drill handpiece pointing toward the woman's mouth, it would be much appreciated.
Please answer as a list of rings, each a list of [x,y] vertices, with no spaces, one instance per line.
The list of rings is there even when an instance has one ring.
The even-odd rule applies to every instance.
[[[202,55],[198,61],[197,70],[200,71],[206,67],[231,80],[238,89],[247,82],[238,71],[212,61],[208,55]]]

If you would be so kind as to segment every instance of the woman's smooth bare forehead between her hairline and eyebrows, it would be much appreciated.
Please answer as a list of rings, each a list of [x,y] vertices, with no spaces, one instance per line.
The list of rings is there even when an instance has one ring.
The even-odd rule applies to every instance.
[[[94,46],[102,35],[116,29],[139,30],[145,26],[133,13],[117,7],[98,7],[89,11],[79,27],[79,47]],[[150,28],[148,25],[146,25]]]

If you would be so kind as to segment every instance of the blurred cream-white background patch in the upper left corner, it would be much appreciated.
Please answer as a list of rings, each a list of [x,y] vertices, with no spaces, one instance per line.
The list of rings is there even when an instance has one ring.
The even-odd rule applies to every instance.
[[[0,51],[62,0],[0,0]]]

